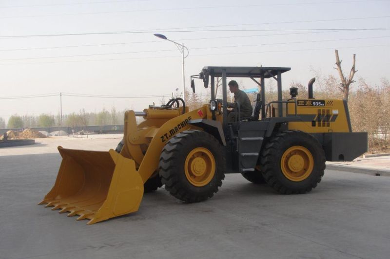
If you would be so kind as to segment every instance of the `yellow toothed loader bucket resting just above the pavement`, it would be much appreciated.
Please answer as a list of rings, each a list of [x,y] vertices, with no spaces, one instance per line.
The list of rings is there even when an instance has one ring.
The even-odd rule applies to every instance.
[[[113,149],[58,149],[62,162],[56,183],[39,204],[70,212],[69,217],[78,215],[77,220],[89,219],[87,224],[138,210],[143,182],[134,160]]]

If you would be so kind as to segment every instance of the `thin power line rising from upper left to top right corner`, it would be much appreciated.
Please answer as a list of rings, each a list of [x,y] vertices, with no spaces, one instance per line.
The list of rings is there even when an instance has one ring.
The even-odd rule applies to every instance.
[[[165,9],[139,9],[139,10],[125,10],[125,11],[108,11],[108,12],[70,13],[70,14],[56,14],[56,15],[8,16],[8,17],[1,17],[0,19],[71,16],[71,15],[96,15],[96,14],[134,13],[134,12],[156,12],[156,11],[181,11],[181,10],[196,10],[196,9],[248,8],[248,7],[281,6],[281,5],[291,6],[291,5],[312,5],[312,4],[340,4],[340,3],[377,2],[377,1],[388,1],[388,0],[345,0],[345,1],[331,1],[331,2],[196,6],[196,7],[179,7],[179,8],[165,8]]]

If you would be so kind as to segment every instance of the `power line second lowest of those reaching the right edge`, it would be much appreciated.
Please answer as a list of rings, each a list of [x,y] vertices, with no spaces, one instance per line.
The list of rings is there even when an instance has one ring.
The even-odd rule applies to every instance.
[[[316,42],[343,41],[343,40],[356,40],[356,39],[372,39],[372,38],[387,38],[387,37],[390,37],[390,36],[358,37],[358,38],[343,38],[343,39],[322,39],[322,40],[308,40],[308,41],[290,41],[290,42],[280,42],[280,43],[262,43],[262,44],[247,44],[247,45],[199,47],[199,48],[191,48],[191,49],[192,50],[202,50],[202,49],[219,49],[219,48],[236,48],[236,47],[255,47],[255,46],[267,46],[267,45],[284,45],[284,44],[297,44],[297,43],[316,43]],[[79,56],[102,56],[102,55],[118,55],[118,54],[135,54],[135,53],[154,53],[154,52],[165,52],[165,51],[176,51],[176,49],[155,50],[155,51],[116,52],[116,53],[86,54],[86,55],[70,55],[70,56],[44,56],[44,57],[29,57],[29,58],[10,58],[10,59],[0,59],[0,61],[31,60],[31,59],[61,58],[61,57],[79,57]]]

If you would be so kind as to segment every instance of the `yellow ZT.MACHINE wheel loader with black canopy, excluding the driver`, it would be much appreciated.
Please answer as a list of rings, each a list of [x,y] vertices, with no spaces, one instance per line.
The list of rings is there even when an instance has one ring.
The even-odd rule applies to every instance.
[[[267,183],[282,194],[310,192],[321,181],[325,161],[351,161],[367,151],[367,133],[352,132],[345,100],[282,99],[281,75],[290,68],[204,67],[191,76],[211,87],[210,102],[189,111],[180,98],[143,111],[126,111],[124,137],[108,152],[58,147],[62,156],[45,207],[101,222],[138,210],[144,192],[165,185],[186,203],[211,198],[227,173],[241,173],[254,184]],[[215,77],[223,99],[215,98]],[[227,77],[258,84],[254,113],[241,117],[235,104],[228,121]],[[265,79],[277,82],[277,100],[265,103]],[[136,117],[144,120],[137,124]]]

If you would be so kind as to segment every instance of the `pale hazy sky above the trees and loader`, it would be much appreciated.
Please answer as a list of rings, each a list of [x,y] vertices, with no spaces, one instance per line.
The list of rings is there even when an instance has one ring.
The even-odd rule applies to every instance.
[[[189,48],[187,87],[204,66],[291,67],[284,88],[306,84],[311,67],[337,76],[335,48],[346,73],[355,53],[356,78],[379,84],[390,78],[389,11],[389,0],[0,0],[0,97],[168,95],[181,89],[181,54],[154,33]],[[91,34],[106,32],[128,33]],[[56,34],[84,35],[38,37]],[[140,111],[159,99],[64,96],[62,111]],[[59,96],[0,99],[6,120],[58,111]]]

